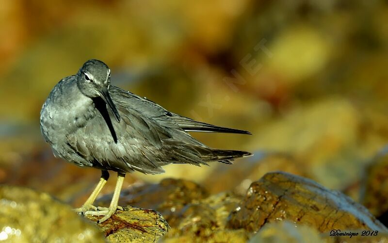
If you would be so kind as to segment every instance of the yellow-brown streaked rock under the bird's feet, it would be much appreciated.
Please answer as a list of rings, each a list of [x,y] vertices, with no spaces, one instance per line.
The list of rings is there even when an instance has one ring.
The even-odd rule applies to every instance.
[[[154,210],[123,207],[110,219],[98,224],[110,242],[156,242],[170,228],[160,213]],[[102,216],[86,216],[97,222]]]

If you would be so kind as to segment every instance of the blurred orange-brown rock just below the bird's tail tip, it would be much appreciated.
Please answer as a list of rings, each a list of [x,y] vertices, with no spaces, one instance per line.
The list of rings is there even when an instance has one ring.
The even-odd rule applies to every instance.
[[[255,157],[225,166],[218,165],[203,184],[210,193],[233,191],[245,194],[250,184],[271,171],[284,171],[295,175],[306,176],[301,162],[292,156],[281,153],[255,152]]]

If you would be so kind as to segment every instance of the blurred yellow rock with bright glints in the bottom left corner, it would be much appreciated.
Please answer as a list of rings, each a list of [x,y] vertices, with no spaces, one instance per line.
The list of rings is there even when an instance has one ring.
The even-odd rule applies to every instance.
[[[1,185],[0,198],[0,240],[105,242],[96,226],[49,194]]]

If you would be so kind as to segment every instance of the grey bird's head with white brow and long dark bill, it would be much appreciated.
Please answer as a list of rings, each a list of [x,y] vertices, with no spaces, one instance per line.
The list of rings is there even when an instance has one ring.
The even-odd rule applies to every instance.
[[[76,77],[81,93],[90,98],[101,97],[112,110],[117,122],[120,122],[120,115],[109,95],[111,84],[109,67],[99,60],[92,59],[82,65]]]

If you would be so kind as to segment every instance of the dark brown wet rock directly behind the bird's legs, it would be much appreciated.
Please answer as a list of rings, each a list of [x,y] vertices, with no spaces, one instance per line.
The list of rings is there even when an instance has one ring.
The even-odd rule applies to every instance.
[[[173,226],[178,212],[189,203],[198,203],[208,197],[207,191],[198,184],[182,179],[163,179],[159,184],[146,184],[124,189],[119,205],[132,205],[159,211]],[[112,194],[98,199],[98,206],[108,207]]]

